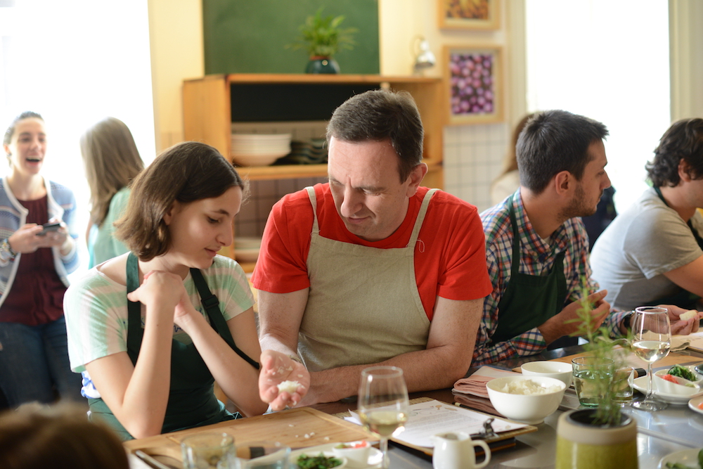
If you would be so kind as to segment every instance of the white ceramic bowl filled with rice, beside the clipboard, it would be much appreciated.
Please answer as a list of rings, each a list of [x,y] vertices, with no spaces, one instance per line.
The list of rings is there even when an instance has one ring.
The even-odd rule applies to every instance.
[[[510,382],[531,380],[541,387],[556,386],[557,391],[546,394],[510,394],[502,389]],[[559,408],[567,389],[563,381],[547,376],[505,376],[486,383],[491,404],[506,418],[522,423],[541,423],[544,418]]]

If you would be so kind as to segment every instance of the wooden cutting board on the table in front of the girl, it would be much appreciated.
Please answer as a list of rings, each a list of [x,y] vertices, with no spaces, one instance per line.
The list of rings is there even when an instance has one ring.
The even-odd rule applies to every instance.
[[[265,416],[228,420],[206,427],[134,439],[124,442],[124,446],[129,451],[141,449],[151,456],[170,456],[181,461],[180,445],[183,437],[213,431],[232,435],[235,444],[273,440],[292,449],[327,443],[352,442],[369,437],[369,434],[359,425],[310,407],[301,407],[269,413]]]

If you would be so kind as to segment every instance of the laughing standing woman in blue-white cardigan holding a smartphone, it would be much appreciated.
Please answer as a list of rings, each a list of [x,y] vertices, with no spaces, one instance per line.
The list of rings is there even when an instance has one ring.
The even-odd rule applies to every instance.
[[[46,129],[25,112],[5,132],[10,172],[0,181],[0,388],[8,405],[80,401],[68,363],[63,295],[78,266],[69,234],[75,198],[41,176]],[[44,229],[43,224],[58,223]]]

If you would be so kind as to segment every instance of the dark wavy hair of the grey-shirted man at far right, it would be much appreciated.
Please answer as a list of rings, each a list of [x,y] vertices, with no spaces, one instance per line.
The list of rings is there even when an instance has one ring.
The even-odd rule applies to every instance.
[[[703,119],[682,119],[664,132],[645,168],[654,187],[678,186],[678,163],[688,165],[691,179],[703,179]]]

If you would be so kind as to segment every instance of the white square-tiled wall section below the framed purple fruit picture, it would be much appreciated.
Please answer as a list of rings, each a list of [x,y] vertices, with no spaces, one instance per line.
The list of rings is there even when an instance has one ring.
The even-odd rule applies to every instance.
[[[508,153],[508,124],[444,127],[444,190],[479,212],[491,207],[491,182]]]

